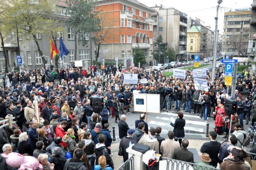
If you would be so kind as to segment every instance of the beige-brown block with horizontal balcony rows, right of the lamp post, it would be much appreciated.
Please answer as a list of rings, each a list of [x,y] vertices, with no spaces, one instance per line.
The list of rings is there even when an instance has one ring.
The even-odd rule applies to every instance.
[[[242,46],[239,51],[247,50],[251,18],[251,8],[236,9],[224,13],[222,55],[242,56],[237,50],[238,44],[241,42]]]

